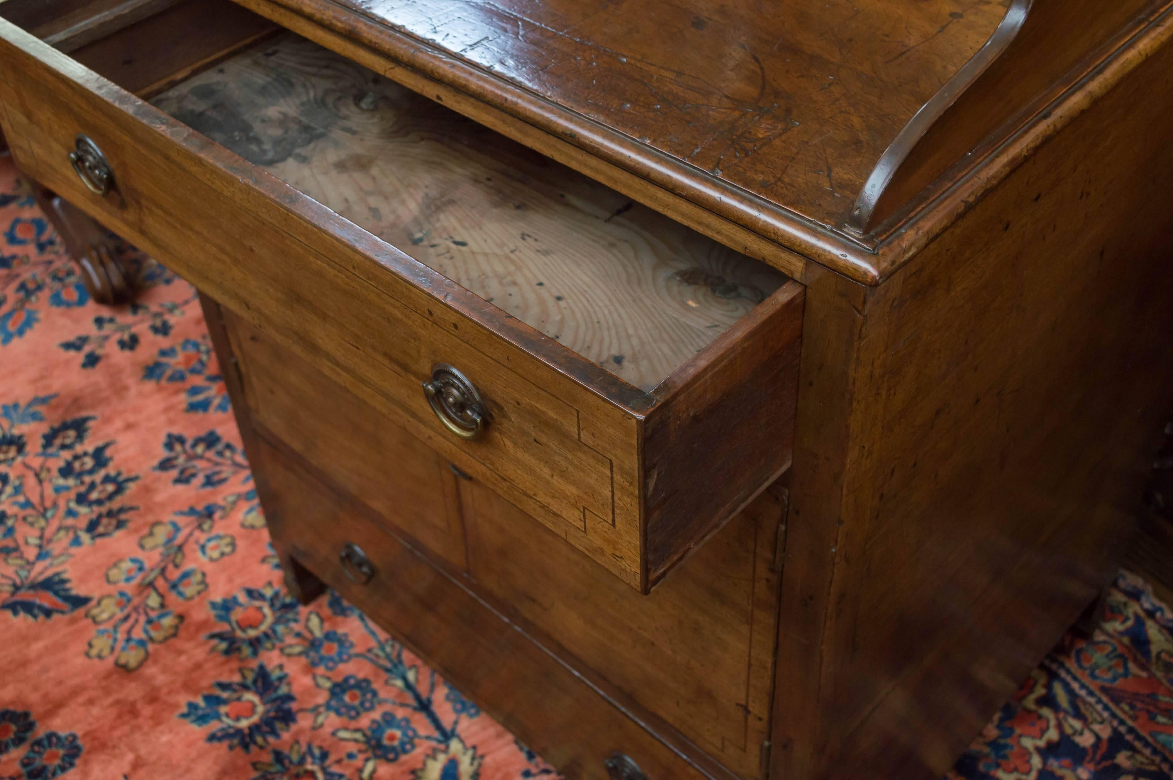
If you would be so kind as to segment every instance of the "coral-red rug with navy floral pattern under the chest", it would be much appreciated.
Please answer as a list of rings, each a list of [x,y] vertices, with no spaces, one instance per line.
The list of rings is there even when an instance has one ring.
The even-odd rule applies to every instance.
[[[137,303],[90,301],[0,158],[0,780],[557,776],[283,590],[195,291],[127,259]],[[1173,611],[1123,572],[976,737],[950,780],[1173,776]]]

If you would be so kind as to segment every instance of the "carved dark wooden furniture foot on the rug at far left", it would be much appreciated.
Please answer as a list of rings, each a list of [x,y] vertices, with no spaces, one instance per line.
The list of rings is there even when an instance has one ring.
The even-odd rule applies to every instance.
[[[118,262],[116,240],[89,215],[60,195],[38,182],[30,183],[36,204],[57,229],[90,297],[107,306],[129,303],[133,298],[130,276]]]

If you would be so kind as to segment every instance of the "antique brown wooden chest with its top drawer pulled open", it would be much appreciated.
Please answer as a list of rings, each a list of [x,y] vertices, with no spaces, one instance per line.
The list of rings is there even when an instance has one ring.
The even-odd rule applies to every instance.
[[[1173,16],[1107,5],[5,0],[0,126],[201,290],[301,598],[571,778],[933,778],[1168,411]]]

